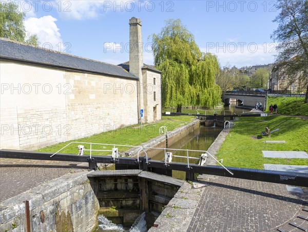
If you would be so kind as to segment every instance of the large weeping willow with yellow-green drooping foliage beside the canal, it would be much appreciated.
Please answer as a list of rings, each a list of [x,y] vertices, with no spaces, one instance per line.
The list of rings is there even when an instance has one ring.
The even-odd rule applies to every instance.
[[[155,66],[162,71],[163,107],[214,107],[221,99],[215,84],[217,57],[202,53],[181,20],[168,20],[159,34],[152,35]]]

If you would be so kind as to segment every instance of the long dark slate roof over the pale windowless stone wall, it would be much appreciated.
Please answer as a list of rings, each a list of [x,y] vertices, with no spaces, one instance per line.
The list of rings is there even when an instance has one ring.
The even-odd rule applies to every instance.
[[[71,56],[66,53],[33,47],[4,38],[0,38],[0,58],[47,65],[61,69],[78,70],[87,73],[139,79],[118,65]]]

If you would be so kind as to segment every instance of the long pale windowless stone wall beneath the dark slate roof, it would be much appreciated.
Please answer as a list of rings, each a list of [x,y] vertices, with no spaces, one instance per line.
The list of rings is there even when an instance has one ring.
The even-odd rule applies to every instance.
[[[138,123],[136,80],[0,65],[0,149],[35,150]]]

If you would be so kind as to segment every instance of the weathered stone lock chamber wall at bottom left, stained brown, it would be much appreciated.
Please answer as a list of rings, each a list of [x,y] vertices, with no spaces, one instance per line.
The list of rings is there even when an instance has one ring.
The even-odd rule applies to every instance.
[[[87,174],[62,176],[2,202],[0,231],[26,231],[26,200],[31,231],[92,231],[99,203]]]

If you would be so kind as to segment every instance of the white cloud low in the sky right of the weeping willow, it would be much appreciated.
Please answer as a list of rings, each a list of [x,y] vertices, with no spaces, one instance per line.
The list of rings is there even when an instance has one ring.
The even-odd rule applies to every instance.
[[[217,55],[221,66],[230,64],[231,66],[243,67],[256,64],[273,63],[276,55],[275,43],[208,43],[206,48],[201,48],[204,52],[211,52]]]

